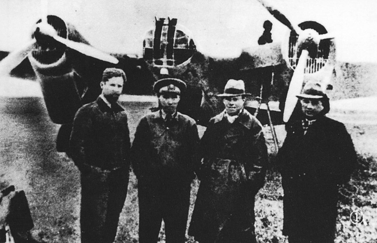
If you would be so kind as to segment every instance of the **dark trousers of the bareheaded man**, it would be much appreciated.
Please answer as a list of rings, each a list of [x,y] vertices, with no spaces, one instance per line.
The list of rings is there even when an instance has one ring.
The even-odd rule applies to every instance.
[[[128,168],[81,174],[81,243],[114,242],[128,180]]]

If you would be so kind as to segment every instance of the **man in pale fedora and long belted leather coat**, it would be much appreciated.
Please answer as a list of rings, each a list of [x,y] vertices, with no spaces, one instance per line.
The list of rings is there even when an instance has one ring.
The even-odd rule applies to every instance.
[[[225,110],[209,121],[189,235],[200,243],[256,242],[254,197],[264,184],[267,146],[261,123],[244,109],[245,84],[228,80]]]

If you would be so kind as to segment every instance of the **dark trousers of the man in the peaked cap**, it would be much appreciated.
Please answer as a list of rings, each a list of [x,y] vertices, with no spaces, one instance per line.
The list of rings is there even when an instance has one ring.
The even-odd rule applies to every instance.
[[[182,180],[182,179],[180,179]],[[139,243],[158,241],[162,219],[166,243],[184,243],[190,207],[191,181],[140,178]]]

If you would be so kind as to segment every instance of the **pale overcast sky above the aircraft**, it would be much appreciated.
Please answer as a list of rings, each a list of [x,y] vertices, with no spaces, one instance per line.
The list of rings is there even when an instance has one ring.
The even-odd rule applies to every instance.
[[[336,36],[337,59],[377,62],[375,0],[270,0],[293,24],[315,20]],[[40,0],[0,0],[0,50],[26,43],[41,16]],[[287,27],[257,0],[49,0],[48,14],[74,24],[95,47],[111,53],[141,54],[154,18],[178,18],[192,32],[198,50],[231,57],[257,45],[263,22],[273,23],[280,41]]]

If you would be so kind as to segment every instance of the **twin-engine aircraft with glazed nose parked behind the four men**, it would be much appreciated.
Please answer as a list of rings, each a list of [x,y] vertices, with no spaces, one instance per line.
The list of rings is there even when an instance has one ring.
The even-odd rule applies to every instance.
[[[189,30],[168,17],[156,18],[147,32],[143,58],[110,55],[89,45],[72,24],[46,14],[35,23],[32,40],[0,62],[0,74],[30,62],[52,122],[62,124],[58,151],[66,151],[76,111],[98,97],[101,74],[110,66],[126,72],[128,94],[152,94],[153,82],[166,75],[181,78],[188,89],[178,109],[199,124],[223,109],[215,95],[222,93],[227,80],[242,79],[253,94],[247,109],[272,129],[290,119],[303,82],[325,82],[323,86],[331,89],[335,43],[322,24],[304,21],[295,26],[273,5],[258,1],[288,27],[282,43],[271,38],[273,26],[266,20],[258,45],[244,48],[237,57],[210,57],[197,50]],[[271,100],[280,101],[279,106],[270,109]]]

